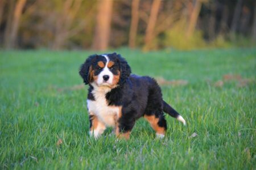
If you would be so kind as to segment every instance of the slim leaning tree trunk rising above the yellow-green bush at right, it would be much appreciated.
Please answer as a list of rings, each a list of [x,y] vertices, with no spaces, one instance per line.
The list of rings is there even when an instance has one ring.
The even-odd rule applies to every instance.
[[[196,0],[191,17],[189,19],[189,24],[188,24],[187,34],[186,34],[187,37],[191,37],[193,32],[195,31],[201,6],[202,6],[201,0]]]

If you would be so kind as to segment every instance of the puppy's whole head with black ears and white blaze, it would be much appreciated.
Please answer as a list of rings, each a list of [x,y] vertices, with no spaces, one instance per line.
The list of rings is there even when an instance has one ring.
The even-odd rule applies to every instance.
[[[126,82],[131,69],[120,54],[94,54],[81,65],[79,74],[85,84],[113,88]]]

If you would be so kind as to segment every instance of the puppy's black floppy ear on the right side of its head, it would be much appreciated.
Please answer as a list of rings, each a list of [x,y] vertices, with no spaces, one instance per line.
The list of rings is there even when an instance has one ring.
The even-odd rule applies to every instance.
[[[113,55],[116,55],[118,57],[119,63],[120,63],[120,79],[118,84],[123,84],[126,82],[126,79],[131,74],[131,67],[128,65],[125,58],[123,58],[120,54],[113,53]]]

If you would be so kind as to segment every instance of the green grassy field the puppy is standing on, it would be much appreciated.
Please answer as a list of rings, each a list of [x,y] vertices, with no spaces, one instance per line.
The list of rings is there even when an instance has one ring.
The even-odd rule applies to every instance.
[[[78,70],[93,52],[0,51],[0,169],[256,169],[256,49],[116,51],[175,80],[163,97],[187,126],[167,116],[158,139],[141,119],[129,141],[90,138]]]

